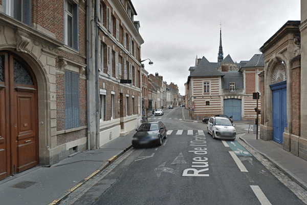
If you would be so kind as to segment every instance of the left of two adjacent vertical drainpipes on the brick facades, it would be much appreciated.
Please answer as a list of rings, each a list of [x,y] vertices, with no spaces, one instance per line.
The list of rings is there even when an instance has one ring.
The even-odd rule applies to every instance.
[[[91,150],[91,123],[90,123],[90,69],[89,69],[89,61],[90,61],[90,40],[89,40],[89,32],[91,29],[87,27],[91,26],[89,23],[89,15],[90,15],[90,1],[86,1],[86,26],[85,26],[85,34],[86,34],[86,113],[87,113],[87,150]]]

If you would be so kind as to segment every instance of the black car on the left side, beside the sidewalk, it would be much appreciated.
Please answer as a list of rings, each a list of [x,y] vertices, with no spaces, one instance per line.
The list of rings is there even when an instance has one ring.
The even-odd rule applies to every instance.
[[[132,138],[132,146],[139,148],[145,145],[162,145],[162,140],[166,138],[166,127],[161,121],[145,122]]]

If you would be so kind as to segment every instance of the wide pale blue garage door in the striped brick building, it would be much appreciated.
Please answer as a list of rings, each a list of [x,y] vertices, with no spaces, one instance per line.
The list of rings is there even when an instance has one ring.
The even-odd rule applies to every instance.
[[[241,120],[241,100],[224,99],[224,115],[232,115],[233,120]]]

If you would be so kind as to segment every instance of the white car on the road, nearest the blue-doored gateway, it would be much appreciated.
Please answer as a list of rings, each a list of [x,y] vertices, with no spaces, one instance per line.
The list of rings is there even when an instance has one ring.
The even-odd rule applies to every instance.
[[[234,140],[236,131],[231,121],[225,117],[210,117],[207,125],[207,133],[212,138]]]

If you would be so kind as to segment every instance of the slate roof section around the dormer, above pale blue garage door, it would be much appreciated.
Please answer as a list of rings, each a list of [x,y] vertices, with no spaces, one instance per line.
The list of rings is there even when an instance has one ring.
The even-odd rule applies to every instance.
[[[244,89],[242,72],[223,72],[225,76],[222,78],[222,89],[229,89],[229,83],[235,83],[235,89]]]

